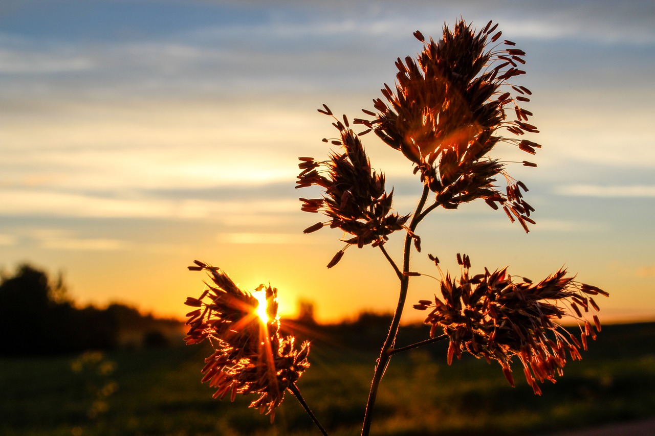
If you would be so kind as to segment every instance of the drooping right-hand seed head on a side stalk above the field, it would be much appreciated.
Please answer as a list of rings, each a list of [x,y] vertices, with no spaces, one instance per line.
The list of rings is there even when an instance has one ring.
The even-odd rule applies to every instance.
[[[476,357],[500,363],[512,386],[512,357],[523,364],[525,378],[534,393],[541,390],[536,383],[563,374],[566,353],[573,360],[581,359],[580,348],[587,349],[587,338],[596,338],[591,323],[584,317],[590,310],[599,310],[595,295],[608,293],[595,286],[578,283],[558,270],[538,283],[527,278],[514,282],[507,268],[470,276],[468,256],[457,255],[461,276],[453,280],[441,272],[441,298],[421,300],[414,308],[432,308],[425,322],[432,325],[430,336],[438,328],[449,336],[447,361],[469,352]],[[557,320],[572,316],[580,327],[580,340],[565,330]],[[601,330],[593,315],[596,331]],[[582,343],[582,344],[581,344]]]

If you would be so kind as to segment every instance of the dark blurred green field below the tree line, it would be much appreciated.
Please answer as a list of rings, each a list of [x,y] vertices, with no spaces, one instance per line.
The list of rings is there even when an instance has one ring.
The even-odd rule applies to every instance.
[[[248,397],[212,399],[200,384],[206,354],[198,346],[109,352],[103,362],[114,371],[104,375],[73,371],[78,355],[1,359],[0,434],[320,434],[289,393],[272,426],[247,408]],[[331,435],[359,434],[376,357],[373,346],[313,346],[298,386]],[[464,356],[448,367],[443,343],[394,357],[371,433],[540,435],[655,416],[655,323],[606,326],[541,397],[521,367],[514,372],[511,388],[498,365]],[[107,382],[117,390],[90,415]]]

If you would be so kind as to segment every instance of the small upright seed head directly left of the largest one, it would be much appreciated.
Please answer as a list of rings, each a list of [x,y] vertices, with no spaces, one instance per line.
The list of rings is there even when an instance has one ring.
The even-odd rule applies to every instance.
[[[327,106],[324,107],[325,110],[319,111],[332,116]],[[350,129],[348,119],[343,117],[343,122],[334,119],[333,125],[339,130],[340,137],[331,143],[341,146],[343,153],[333,152],[325,162],[300,158],[299,168],[302,171],[298,175],[296,188],[314,185],[324,191],[323,198],[301,198],[301,209],[314,213],[322,211],[329,218],[327,223],[316,223],[305,229],[305,233],[314,232],[329,223],[331,228],[341,228],[346,233],[343,241],[348,245],[361,248],[368,244],[384,244],[388,234],[403,228],[409,215],[392,213],[394,193],[384,190],[384,174],[371,169],[364,145],[358,134]],[[328,267],[334,266],[342,255],[343,249]]]

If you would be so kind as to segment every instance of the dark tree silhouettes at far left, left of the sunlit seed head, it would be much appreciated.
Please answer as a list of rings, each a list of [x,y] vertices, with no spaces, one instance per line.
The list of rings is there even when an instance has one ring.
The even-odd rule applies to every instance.
[[[166,333],[179,330],[179,321],[143,315],[119,303],[79,308],[69,297],[62,274],[52,280],[26,263],[12,275],[0,274],[0,329],[1,356],[53,355],[165,346],[170,342]]]

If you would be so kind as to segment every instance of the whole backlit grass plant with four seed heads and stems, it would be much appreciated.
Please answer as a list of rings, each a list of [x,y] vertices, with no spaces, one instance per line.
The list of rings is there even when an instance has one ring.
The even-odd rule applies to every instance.
[[[525,201],[525,184],[506,172],[510,163],[534,167],[536,164],[505,162],[489,157],[497,145],[510,145],[535,154],[541,145],[524,139],[538,129],[529,124],[533,115],[523,105],[531,91],[515,83],[525,71],[525,52],[512,41],[500,39],[498,25],[489,22],[476,31],[464,20],[453,29],[445,26],[439,41],[426,40],[416,59],[398,58],[396,86],[384,85],[384,99],[373,100],[373,109],[363,109],[369,118],[337,117],[323,105],[319,112],[332,118],[339,132],[336,139],[323,139],[341,147],[327,160],[301,157],[297,188],[316,186],[320,198],[301,198],[303,211],[322,213],[327,220],[306,228],[305,233],[324,227],[343,231],[345,244],[327,264],[333,268],[352,246],[370,245],[379,249],[398,278],[398,302],[388,335],[381,348],[371,381],[362,424],[362,435],[371,429],[377,391],[393,355],[440,340],[449,340],[447,362],[468,352],[488,362],[498,361],[514,386],[510,361],[523,364],[527,382],[540,394],[539,382],[555,382],[566,363],[566,354],[580,359],[580,348],[587,338],[595,339],[601,330],[599,307],[594,296],[608,294],[598,287],[576,282],[565,270],[558,270],[540,282],[527,278],[515,281],[508,268],[490,272],[484,268],[470,274],[467,255],[457,253],[460,276],[453,279],[443,272],[439,259],[428,255],[438,268],[439,294],[419,300],[414,308],[430,310],[425,322],[432,326],[430,337],[416,344],[396,348],[396,336],[407,299],[410,278],[428,275],[411,269],[411,252],[421,252],[419,224],[438,208],[457,209],[460,204],[482,200],[491,208],[502,209],[510,221],[525,232],[535,222],[534,209]],[[360,133],[351,124],[364,126]],[[398,150],[413,163],[422,193],[413,213],[393,209],[393,189],[387,191],[383,173],[371,168],[361,137],[373,132],[384,143]],[[498,184],[504,181],[504,187]],[[396,262],[386,250],[390,234],[404,234],[402,261]],[[278,333],[276,289],[266,289],[269,319],[257,318],[259,302],[252,293],[242,291],[227,275],[200,261],[191,270],[206,270],[212,283],[199,299],[189,298],[196,307],[188,314],[187,343],[212,341],[214,354],[206,359],[203,382],[217,388],[215,397],[231,392],[258,393],[251,407],[274,416],[285,390],[290,390],[319,424],[305,403],[295,382],[309,367],[309,344],[296,348],[292,336]],[[593,325],[586,318],[593,319]],[[579,340],[560,327],[559,321],[572,317],[580,325]],[[441,333],[441,334],[440,334]]]

